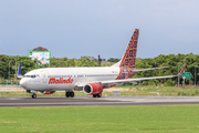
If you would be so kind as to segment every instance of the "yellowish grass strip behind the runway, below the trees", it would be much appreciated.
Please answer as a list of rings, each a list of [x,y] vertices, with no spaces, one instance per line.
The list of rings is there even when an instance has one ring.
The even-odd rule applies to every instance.
[[[155,86],[155,85],[137,85],[137,86],[116,86],[121,91],[121,96],[199,96],[199,88],[175,88],[175,86]],[[125,91],[123,91],[123,89]],[[107,89],[109,90],[109,89]],[[31,96],[27,92],[0,92],[0,96]],[[83,92],[76,91],[76,96],[88,96]],[[65,96],[65,92],[55,92],[52,95],[40,94],[38,96]],[[103,96],[115,96],[113,92],[103,91]]]

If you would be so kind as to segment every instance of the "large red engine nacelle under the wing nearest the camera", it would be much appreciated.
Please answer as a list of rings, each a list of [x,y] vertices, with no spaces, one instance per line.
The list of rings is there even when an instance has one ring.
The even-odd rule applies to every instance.
[[[85,94],[100,94],[103,92],[103,86],[98,83],[88,83],[83,88]]]

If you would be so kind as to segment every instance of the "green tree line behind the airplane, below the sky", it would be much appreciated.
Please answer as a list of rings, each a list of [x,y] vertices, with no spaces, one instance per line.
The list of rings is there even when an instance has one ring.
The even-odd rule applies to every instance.
[[[118,62],[121,59],[111,58],[108,60],[102,60],[102,66],[109,66]],[[1,79],[14,79],[17,74],[17,69],[21,62],[22,74],[40,68],[72,68],[72,66],[98,66],[97,59],[93,57],[81,57],[81,59],[69,59],[69,58],[51,58],[50,65],[39,65],[40,61],[31,60],[29,57],[14,57],[14,55],[0,55],[0,78]],[[197,83],[198,83],[198,63],[199,54],[160,54],[155,58],[148,59],[136,59],[136,69],[147,69],[147,68],[158,68],[168,66],[168,69],[150,70],[138,72],[134,78],[146,78],[146,76],[160,76],[160,75],[176,75],[182,69],[184,63],[188,62],[186,72],[191,72],[191,80],[186,80],[187,84],[195,83],[195,66],[197,70]],[[167,83],[168,85],[174,85],[178,82],[177,78],[163,79],[163,80],[150,80],[143,81],[145,84],[159,84]]]

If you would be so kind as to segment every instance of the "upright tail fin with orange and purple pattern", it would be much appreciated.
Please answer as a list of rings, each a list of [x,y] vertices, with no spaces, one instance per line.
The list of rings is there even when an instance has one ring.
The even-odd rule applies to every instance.
[[[130,71],[135,69],[138,34],[139,34],[139,29],[135,29],[132,39],[128,43],[128,47],[126,49],[126,52],[121,61],[121,65],[119,65],[121,71],[116,80],[128,79],[135,75],[135,73]]]

